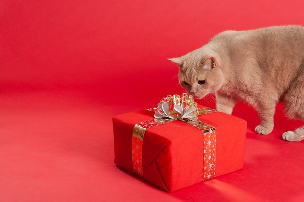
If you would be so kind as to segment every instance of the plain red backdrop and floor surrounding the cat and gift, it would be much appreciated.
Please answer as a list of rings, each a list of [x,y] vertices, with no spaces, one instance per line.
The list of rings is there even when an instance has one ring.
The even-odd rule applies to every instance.
[[[0,201],[303,201],[304,141],[280,139],[303,122],[282,104],[268,136],[237,104],[244,169],[171,194],[115,167],[111,123],[183,92],[166,58],[220,31],[303,19],[301,0],[0,0]]]

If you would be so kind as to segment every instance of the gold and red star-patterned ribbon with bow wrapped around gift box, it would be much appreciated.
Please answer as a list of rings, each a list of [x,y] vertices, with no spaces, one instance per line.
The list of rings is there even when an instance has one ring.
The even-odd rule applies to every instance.
[[[214,178],[216,162],[216,131],[215,127],[198,121],[197,117],[202,114],[215,112],[215,109],[197,108],[192,95],[183,93],[180,95],[168,95],[162,98],[158,108],[148,109],[155,112],[155,119],[135,124],[132,135],[132,164],[136,175],[143,178],[142,169],[142,144],[147,129],[172,122],[183,121],[203,131],[203,180]]]

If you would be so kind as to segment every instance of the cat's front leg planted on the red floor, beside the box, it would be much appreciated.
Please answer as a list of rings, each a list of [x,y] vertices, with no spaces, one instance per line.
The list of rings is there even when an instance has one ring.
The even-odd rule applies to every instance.
[[[255,127],[255,132],[262,134],[262,135],[268,135],[271,133],[273,129],[273,115],[275,111],[275,102],[269,102],[269,103],[259,103],[256,106],[253,106],[261,120],[261,124],[257,125]]]

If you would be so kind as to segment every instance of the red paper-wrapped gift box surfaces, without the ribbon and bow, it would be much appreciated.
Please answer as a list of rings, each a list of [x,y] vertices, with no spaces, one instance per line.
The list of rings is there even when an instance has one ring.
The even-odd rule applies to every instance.
[[[113,117],[114,162],[119,167],[133,172],[133,128],[153,115],[141,110]],[[242,169],[247,122],[222,112],[198,120],[216,128],[215,177]],[[202,182],[203,149],[203,131],[193,125],[176,120],[149,128],[142,145],[143,179],[168,192]]]

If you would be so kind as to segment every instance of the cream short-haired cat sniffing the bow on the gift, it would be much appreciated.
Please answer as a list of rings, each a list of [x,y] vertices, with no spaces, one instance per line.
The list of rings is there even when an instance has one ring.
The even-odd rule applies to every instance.
[[[197,99],[216,93],[217,110],[228,114],[237,101],[252,105],[267,135],[279,101],[289,118],[304,120],[304,28],[273,26],[223,31],[206,45],[179,58],[180,85]],[[304,140],[304,126],[287,131],[283,140]]]

